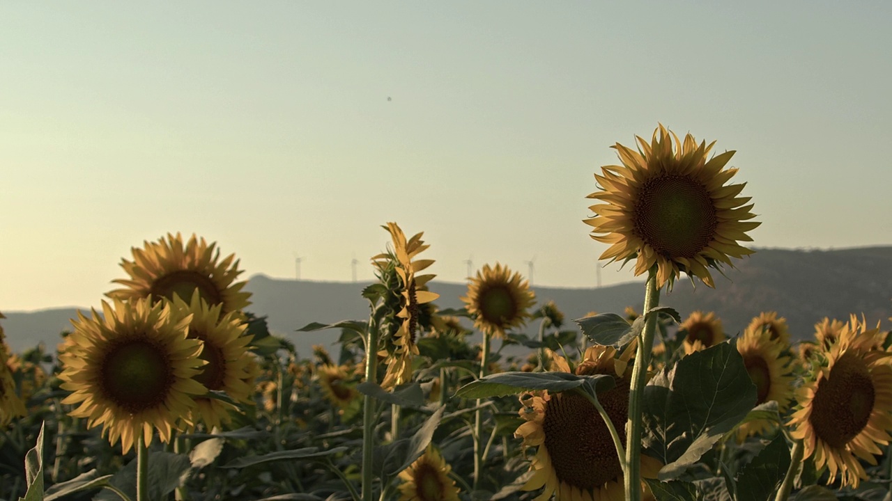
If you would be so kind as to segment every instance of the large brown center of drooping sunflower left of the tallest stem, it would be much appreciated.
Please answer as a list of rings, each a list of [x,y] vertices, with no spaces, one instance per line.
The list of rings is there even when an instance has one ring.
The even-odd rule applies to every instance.
[[[617,386],[599,393],[598,400],[620,440],[625,442],[629,388]],[[558,480],[593,491],[623,475],[607,424],[591,402],[577,393],[560,393],[549,400],[542,423],[544,446]]]

